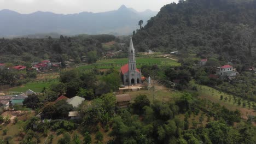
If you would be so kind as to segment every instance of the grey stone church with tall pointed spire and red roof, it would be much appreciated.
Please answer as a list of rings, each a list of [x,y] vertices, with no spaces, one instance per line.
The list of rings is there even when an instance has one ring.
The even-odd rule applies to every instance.
[[[141,71],[136,68],[135,49],[133,47],[132,38],[129,47],[129,61],[121,67],[121,75],[124,85],[141,84]]]

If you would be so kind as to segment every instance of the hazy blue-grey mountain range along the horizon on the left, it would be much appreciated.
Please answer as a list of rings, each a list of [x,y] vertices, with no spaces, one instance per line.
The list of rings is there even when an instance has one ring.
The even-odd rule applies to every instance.
[[[121,5],[118,10],[104,13],[82,12],[79,14],[54,14],[37,11],[19,14],[3,9],[0,11],[0,37],[13,37],[35,33],[74,34],[131,34],[138,28],[138,21],[147,21],[157,13],[151,10],[138,12]]]

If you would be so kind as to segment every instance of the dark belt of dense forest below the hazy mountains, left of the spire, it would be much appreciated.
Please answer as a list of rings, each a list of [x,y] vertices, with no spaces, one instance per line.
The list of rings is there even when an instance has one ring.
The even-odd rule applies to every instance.
[[[115,39],[114,35],[61,35],[59,39],[3,38],[0,39],[0,63],[40,62],[42,59],[50,59],[51,62],[80,61],[81,57],[88,57],[95,51],[97,56],[101,56],[105,52],[102,43]]]

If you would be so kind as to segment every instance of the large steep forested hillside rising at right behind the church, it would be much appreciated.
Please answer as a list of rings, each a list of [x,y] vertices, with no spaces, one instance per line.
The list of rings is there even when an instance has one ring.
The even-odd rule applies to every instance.
[[[187,0],[167,4],[134,35],[139,51],[218,53],[226,61],[255,55],[255,0]]]

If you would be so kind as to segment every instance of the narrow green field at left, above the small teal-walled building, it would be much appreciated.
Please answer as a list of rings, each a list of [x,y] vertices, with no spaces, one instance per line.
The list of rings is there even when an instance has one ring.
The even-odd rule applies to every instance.
[[[44,87],[49,87],[53,83],[59,82],[58,79],[50,79],[50,80],[42,80],[42,81],[34,81],[28,82],[19,87],[10,88],[10,92],[26,92],[28,89],[31,89],[34,92],[42,92]]]

